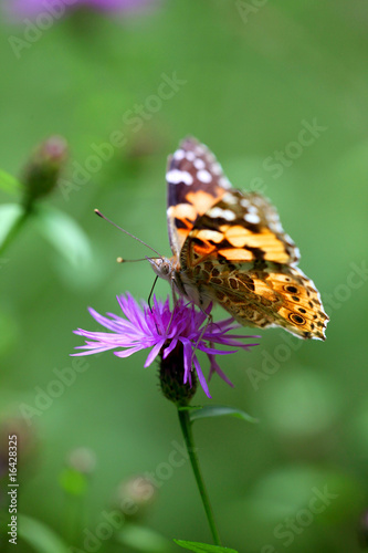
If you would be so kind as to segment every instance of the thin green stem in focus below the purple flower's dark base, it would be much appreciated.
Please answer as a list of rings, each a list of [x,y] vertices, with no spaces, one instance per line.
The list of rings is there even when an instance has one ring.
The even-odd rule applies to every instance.
[[[209,523],[210,529],[211,529],[213,542],[214,542],[215,545],[221,545],[221,540],[220,540],[219,531],[218,531],[215,522],[214,522],[212,507],[211,507],[211,503],[210,503],[210,500],[209,500],[209,497],[208,497],[208,492],[207,492],[207,489],[206,489],[206,486],[204,486],[204,481],[203,481],[203,477],[202,477],[202,473],[201,473],[201,469],[200,469],[200,466],[199,466],[197,450],[194,448],[194,440],[193,440],[193,434],[192,434],[191,422],[190,422],[190,418],[189,418],[189,411],[188,411],[188,409],[180,409],[180,408],[178,408],[178,415],[179,415],[181,431],[182,431],[182,435],[183,435],[183,438],[185,438],[185,442],[186,442],[186,446],[187,446],[187,451],[189,453],[189,459],[190,459],[190,462],[191,462],[191,467],[192,467],[193,472],[194,472],[194,478],[196,478],[196,481],[197,481],[197,486],[198,486],[198,489],[199,489],[200,497],[202,499],[202,503],[203,503],[203,507],[204,507],[207,520],[208,520],[208,523]]]

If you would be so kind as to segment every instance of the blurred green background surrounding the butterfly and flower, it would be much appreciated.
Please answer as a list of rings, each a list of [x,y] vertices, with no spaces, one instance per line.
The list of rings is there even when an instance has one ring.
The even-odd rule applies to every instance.
[[[235,187],[261,190],[277,206],[330,316],[325,343],[269,330],[260,347],[221,359],[235,387],[213,378],[212,401],[260,419],[203,420],[194,428],[223,542],[244,553],[361,551],[359,521],[368,509],[368,6],[240,6],[162,0],[129,18],[73,12],[19,58],[9,38],[24,39],[24,21],[1,22],[0,168],[19,175],[36,144],[64,136],[64,184],[44,204],[73,217],[92,248],[92,265],[67,264],[29,221],[0,260],[0,416],[6,428],[24,435],[19,507],[66,543],[71,518],[80,532],[93,532],[122,480],[168,462],[172,442],[182,442],[176,410],[158,392],[156,368],[143,368],[144,353],[86,357],[87,369],[30,425],[21,406],[34,408],[40,388],[57,379],[55,369],[72,366],[69,354],[82,344],[72,330],[97,330],[88,305],[118,313],[116,294],[147,299],[148,263],[115,262],[147,250],[93,209],[168,254],[166,158],[190,134],[215,153]],[[149,97],[162,74],[181,84],[157,108]],[[154,108],[134,124],[129,111],[147,102]],[[292,145],[315,123],[323,129],[308,146]],[[117,131],[123,147],[75,186],[75,168]],[[270,158],[277,152],[286,157],[276,170]],[[14,198],[1,194],[0,200]],[[156,289],[161,298],[168,291],[165,282]],[[211,400],[199,390],[196,403]],[[83,512],[60,484],[65,459],[80,447],[96,458]],[[147,526],[168,540],[210,542],[189,463],[160,484]],[[311,514],[316,489],[333,499]],[[7,497],[2,508],[7,512]],[[24,542],[19,547],[34,551]],[[98,551],[136,550],[104,541]]]

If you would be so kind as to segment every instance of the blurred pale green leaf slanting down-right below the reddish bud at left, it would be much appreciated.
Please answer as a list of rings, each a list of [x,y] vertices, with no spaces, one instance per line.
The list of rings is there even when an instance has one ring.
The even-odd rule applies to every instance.
[[[73,269],[88,265],[92,260],[90,240],[69,215],[48,206],[39,206],[35,225]]]

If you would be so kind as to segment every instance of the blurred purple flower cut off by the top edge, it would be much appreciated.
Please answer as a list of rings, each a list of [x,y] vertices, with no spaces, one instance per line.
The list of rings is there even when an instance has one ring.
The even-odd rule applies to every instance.
[[[139,11],[157,0],[8,0],[7,9],[17,17],[57,15],[69,8],[87,7],[101,11]]]

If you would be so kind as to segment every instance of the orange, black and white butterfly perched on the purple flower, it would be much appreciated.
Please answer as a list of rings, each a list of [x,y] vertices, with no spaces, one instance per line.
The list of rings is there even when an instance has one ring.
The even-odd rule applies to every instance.
[[[319,293],[296,267],[298,249],[271,202],[232,188],[214,155],[191,137],[169,157],[166,180],[172,257],[149,261],[174,294],[202,311],[218,303],[244,326],[325,340]]]

